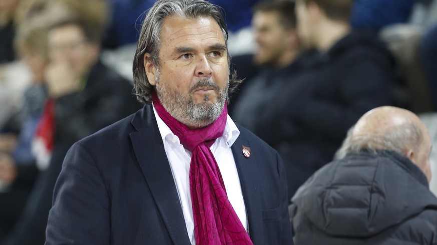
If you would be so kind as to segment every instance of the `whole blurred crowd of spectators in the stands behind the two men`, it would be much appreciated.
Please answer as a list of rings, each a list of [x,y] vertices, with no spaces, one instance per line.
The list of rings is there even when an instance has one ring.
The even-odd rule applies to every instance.
[[[279,152],[289,198],[372,108],[437,125],[437,0],[302,1],[211,0],[245,78],[229,114]],[[0,244],[44,244],[68,149],[141,108],[132,58],[153,3],[0,0]]]

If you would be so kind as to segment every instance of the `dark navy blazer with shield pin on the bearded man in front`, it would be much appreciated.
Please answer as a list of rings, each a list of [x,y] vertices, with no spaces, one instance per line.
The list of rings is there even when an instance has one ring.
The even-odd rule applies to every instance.
[[[238,126],[232,152],[255,245],[293,244],[279,155]],[[250,148],[250,157],[242,146]],[[47,245],[189,245],[153,109],[144,106],[69,150],[54,190]]]

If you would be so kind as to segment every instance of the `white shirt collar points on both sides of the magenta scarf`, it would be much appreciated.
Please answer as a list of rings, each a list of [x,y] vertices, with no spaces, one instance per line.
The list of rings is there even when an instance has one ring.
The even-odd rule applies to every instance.
[[[179,137],[173,134],[173,132],[170,130],[167,124],[165,124],[164,121],[161,119],[161,117],[159,117],[158,112],[155,109],[155,106],[152,107],[153,107],[153,113],[155,114],[156,122],[158,124],[159,132],[161,133],[162,142],[164,142],[165,144],[165,140],[168,139],[173,143],[180,144]],[[237,140],[239,135],[240,135],[240,130],[238,130],[237,125],[235,125],[234,121],[232,121],[231,117],[228,115],[226,119],[225,130],[223,131],[223,136],[222,136],[223,140],[225,140],[228,143],[229,147],[231,147],[232,144],[234,144],[234,142]]]

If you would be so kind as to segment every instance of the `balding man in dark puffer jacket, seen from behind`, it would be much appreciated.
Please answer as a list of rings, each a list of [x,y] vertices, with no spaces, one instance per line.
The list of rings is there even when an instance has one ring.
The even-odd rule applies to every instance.
[[[435,245],[437,198],[429,133],[412,112],[383,106],[352,127],[337,156],[292,198],[296,245]]]

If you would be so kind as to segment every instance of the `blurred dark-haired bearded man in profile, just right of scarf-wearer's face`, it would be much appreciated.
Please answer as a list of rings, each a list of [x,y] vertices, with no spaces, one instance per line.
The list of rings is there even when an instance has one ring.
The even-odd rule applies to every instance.
[[[290,119],[294,111],[288,108],[298,103],[289,91],[299,86],[294,79],[304,70],[303,61],[307,55],[299,57],[293,2],[266,1],[256,4],[253,9],[252,27],[258,44],[253,60],[259,72],[242,84],[236,98],[232,97],[234,109],[231,114],[236,122],[279,152],[289,173],[293,171],[288,168],[289,162],[294,159],[283,154],[281,146],[294,140],[289,130],[293,127]],[[290,190],[291,198],[294,191],[290,193]]]

